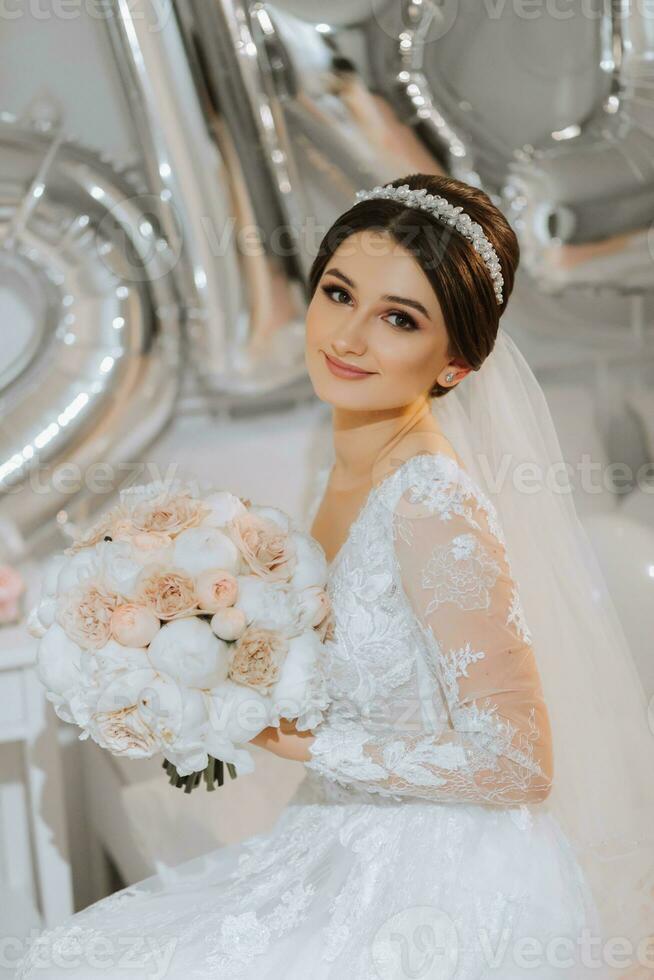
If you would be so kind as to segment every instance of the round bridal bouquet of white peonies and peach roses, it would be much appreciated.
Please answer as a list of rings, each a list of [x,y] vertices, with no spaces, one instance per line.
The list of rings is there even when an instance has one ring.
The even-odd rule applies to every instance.
[[[313,728],[333,618],[320,545],[274,507],[176,481],[119,502],[46,565],[28,629],[64,721],[114,755],[161,753],[187,792],[251,772],[280,718]]]

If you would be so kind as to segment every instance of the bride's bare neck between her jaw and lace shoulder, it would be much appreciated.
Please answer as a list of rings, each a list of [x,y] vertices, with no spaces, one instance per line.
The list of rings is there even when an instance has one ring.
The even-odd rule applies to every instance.
[[[371,480],[373,469],[407,433],[440,432],[429,399],[381,412],[356,412],[334,408],[332,412],[334,476],[341,486],[356,489]]]

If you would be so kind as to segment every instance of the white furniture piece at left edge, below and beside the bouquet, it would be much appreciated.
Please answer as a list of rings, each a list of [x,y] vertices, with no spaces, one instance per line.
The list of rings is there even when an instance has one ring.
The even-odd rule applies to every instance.
[[[27,896],[51,926],[73,911],[73,888],[57,718],[36,647],[24,624],[0,627],[0,883]]]

